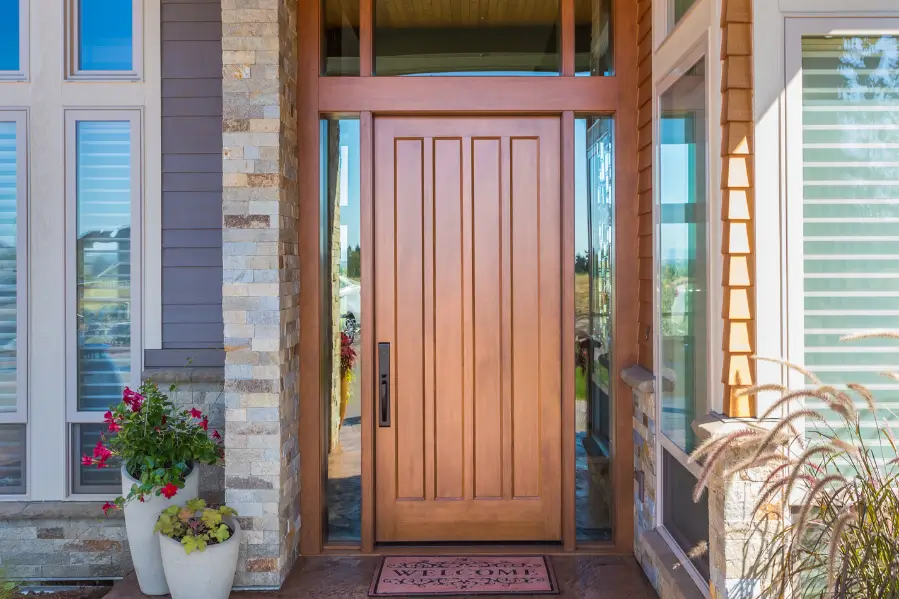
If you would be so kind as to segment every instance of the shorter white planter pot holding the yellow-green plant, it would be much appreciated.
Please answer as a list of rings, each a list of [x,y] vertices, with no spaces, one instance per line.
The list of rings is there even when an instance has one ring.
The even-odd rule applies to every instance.
[[[228,599],[240,553],[240,525],[230,516],[224,521],[234,531],[231,538],[190,555],[180,542],[157,534],[172,599]]]

